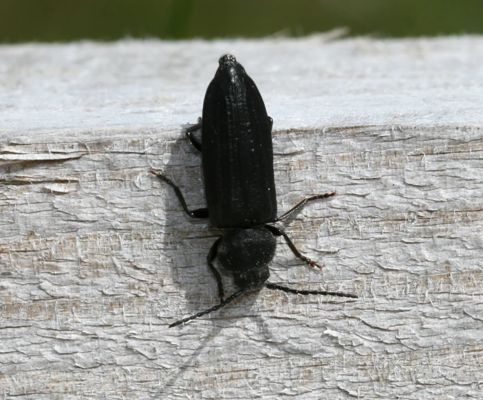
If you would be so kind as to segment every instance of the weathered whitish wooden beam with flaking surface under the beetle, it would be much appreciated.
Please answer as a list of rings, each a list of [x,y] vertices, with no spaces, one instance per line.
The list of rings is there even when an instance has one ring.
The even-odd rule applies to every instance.
[[[477,399],[483,381],[483,38],[328,36],[0,47],[0,395],[10,399]],[[182,124],[217,59],[275,121],[272,282],[217,302]],[[226,291],[235,290],[224,274]]]

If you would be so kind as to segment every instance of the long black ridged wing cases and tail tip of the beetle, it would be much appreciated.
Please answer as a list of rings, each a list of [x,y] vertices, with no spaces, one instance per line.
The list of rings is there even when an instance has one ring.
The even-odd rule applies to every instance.
[[[277,217],[270,119],[255,82],[223,56],[203,104],[206,202],[214,227],[251,227]]]

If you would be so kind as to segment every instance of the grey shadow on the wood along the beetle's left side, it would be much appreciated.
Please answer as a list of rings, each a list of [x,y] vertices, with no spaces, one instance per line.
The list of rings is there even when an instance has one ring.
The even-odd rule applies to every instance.
[[[151,165],[162,168],[169,179],[179,182],[189,198],[190,207],[203,207],[206,200],[201,155],[193,151],[193,146],[184,137],[186,126],[182,125],[183,129],[176,134],[178,137],[169,141],[164,164]],[[203,304],[217,302],[217,287],[206,265],[206,253],[220,231],[211,227],[208,220],[186,216],[174,190],[157,177],[152,179],[155,184],[152,190],[155,195],[162,196],[157,207],[164,211],[163,221],[160,222],[163,225],[166,262],[162,267],[170,269],[168,275],[176,291],[186,298],[187,312],[191,308],[195,311]],[[228,273],[224,272],[224,278],[228,279]]]

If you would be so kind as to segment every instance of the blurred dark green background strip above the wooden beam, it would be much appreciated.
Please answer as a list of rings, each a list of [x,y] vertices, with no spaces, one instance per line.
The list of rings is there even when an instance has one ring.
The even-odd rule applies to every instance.
[[[483,0],[0,0],[0,42],[483,33]]]

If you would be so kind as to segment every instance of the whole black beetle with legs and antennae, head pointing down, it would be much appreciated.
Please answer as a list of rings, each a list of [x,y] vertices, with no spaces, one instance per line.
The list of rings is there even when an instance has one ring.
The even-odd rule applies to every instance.
[[[193,132],[202,130],[202,140]],[[334,196],[335,192],[315,195],[300,201],[277,217],[277,197],[273,175],[272,118],[255,82],[234,56],[219,59],[203,103],[203,117],[186,129],[186,136],[202,152],[207,208],[189,210],[178,186],[160,171],[151,170],[175,190],[184,211],[194,218],[209,218],[213,227],[231,228],[217,238],[208,252],[208,266],[218,284],[220,303],[211,309],[174,322],[169,327],[216,311],[248,291],[262,287],[303,295],[330,295],[357,298],[339,291],[297,290],[267,282],[268,263],[275,256],[276,236],[283,236],[295,256],[320,267],[300,254],[287,234],[268,225],[285,219],[309,201]],[[232,271],[240,290],[224,299],[222,277],[213,265],[215,258]]]

